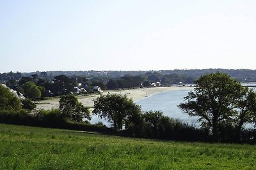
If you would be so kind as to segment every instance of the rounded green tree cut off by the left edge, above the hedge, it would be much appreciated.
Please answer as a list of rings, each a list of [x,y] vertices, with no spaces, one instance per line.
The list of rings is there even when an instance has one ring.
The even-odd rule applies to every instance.
[[[20,100],[7,87],[0,85],[0,110],[17,111],[20,109]]]

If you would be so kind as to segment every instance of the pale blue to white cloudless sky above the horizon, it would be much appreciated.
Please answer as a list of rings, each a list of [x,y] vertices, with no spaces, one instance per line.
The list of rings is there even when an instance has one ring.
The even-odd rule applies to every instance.
[[[0,73],[256,69],[255,0],[0,0]]]

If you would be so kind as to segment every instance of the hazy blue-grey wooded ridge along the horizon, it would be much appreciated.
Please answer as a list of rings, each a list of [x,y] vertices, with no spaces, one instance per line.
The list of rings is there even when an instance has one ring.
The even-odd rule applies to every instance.
[[[174,69],[174,70],[159,70],[159,71],[35,71],[31,73],[0,73],[0,81],[9,81],[9,80],[20,80],[22,76],[32,76],[37,74],[39,78],[44,78],[46,81],[54,80],[54,76],[59,76],[63,74],[70,78],[74,77],[86,77],[90,81],[102,81],[106,82],[110,78],[116,79],[121,78],[125,75],[130,76],[142,76],[148,73],[159,73],[164,74],[178,74],[186,75],[192,78],[199,78],[204,74],[211,74],[214,72],[227,73],[232,78],[241,82],[255,82],[256,81],[256,70],[251,69]],[[160,78],[161,76],[159,76]],[[156,80],[156,79],[155,79]]]

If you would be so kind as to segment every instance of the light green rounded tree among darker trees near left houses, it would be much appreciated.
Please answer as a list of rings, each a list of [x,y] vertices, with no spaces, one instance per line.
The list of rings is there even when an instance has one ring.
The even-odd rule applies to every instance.
[[[22,85],[24,89],[24,96],[30,99],[36,99],[41,97],[41,90],[40,88],[35,85],[32,81],[27,82],[26,84]]]

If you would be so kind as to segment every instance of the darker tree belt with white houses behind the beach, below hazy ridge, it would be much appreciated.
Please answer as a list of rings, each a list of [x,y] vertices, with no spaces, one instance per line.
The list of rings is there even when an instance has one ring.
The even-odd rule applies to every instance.
[[[90,92],[93,87],[98,86],[102,90],[131,89],[140,87],[150,87],[152,83],[159,82],[162,86],[170,86],[180,81],[183,83],[193,83],[194,78],[182,74],[160,74],[157,72],[147,72],[142,75],[125,75],[119,78],[109,78],[109,76],[66,76],[60,74],[52,77],[47,72],[35,73],[30,76],[22,76],[22,73],[2,74],[2,83],[17,92],[24,94],[29,99],[40,97],[53,97],[67,95],[74,92],[74,87]]]

